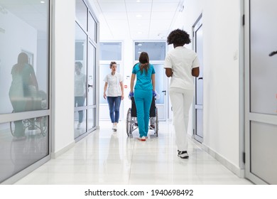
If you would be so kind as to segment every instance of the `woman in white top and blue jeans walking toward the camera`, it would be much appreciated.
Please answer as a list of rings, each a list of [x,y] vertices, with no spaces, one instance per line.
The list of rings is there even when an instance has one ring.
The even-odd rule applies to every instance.
[[[111,62],[110,72],[104,78],[104,99],[107,99],[109,104],[109,117],[112,122],[112,129],[117,131],[117,123],[119,123],[119,107],[121,100],[124,99],[123,77],[116,72],[116,62]],[[107,94],[106,94],[107,91]]]

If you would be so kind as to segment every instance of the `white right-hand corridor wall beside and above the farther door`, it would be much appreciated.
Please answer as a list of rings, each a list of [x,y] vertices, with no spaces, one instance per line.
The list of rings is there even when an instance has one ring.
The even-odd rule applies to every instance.
[[[239,175],[239,0],[187,0],[174,28],[191,34],[203,14],[203,146]],[[188,48],[190,48],[188,46]]]

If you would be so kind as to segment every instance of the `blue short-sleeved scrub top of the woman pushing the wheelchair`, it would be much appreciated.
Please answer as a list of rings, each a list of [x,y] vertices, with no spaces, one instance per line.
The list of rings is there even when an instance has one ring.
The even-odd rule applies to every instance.
[[[155,69],[153,65],[149,63],[149,69],[146,74],[145,70],[143,70],[141,74],[141,70],[139,70],[139,65],[140,63],[137,63],[134,65],[133,74],[136,74],[136,85],[135,85],[135,90],[136,89],[141,89],[141,90],[153,90],[153,85],[152,85],[152,74],[155,74]]]

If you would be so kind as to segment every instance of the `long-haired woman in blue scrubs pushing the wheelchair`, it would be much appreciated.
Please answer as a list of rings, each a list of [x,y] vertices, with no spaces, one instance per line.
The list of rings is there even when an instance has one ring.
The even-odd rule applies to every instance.
[[[134,80],[136,85],[134,87]],[[136,116],[139,125],[139,140],[146,141],[148,134],[149,112],[153,95],[155,94],[155,69],[149,63],[148,53],[142,52],[139,63],[134,65],[131,85],[131,97],[134,96],[136,103]]]

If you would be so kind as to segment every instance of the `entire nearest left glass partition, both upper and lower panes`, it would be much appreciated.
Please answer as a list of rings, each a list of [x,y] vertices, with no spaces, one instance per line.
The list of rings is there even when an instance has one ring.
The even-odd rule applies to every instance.
[[[49,8],[0,1],[0,183],[49,155],[49,116],[28,118],[49,109]]]

